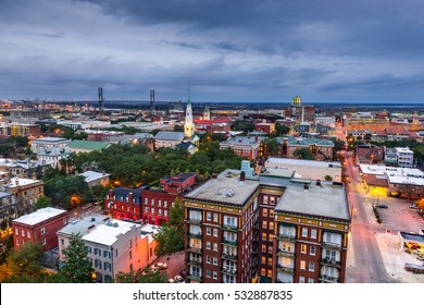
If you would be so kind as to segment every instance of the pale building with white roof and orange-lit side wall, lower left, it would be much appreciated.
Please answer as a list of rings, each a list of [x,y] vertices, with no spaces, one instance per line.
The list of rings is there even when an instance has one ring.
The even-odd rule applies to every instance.
[[[98,282],[111,282],[117,272],[139,270],[151,264],[155,241],[152,228],[111,219],[103,215],[73,220],[58,232],[60,259],[70,244],[72,234],[79,233],[87,248],[87,259],[92,264]]]

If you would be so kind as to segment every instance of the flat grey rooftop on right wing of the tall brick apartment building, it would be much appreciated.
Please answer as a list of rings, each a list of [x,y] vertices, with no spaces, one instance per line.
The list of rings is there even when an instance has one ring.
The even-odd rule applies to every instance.
[[[350,221],[345,187],[333,183],[322,182],[322,187],[312,184],[309,190],[287,187],[275,207],[278,211]]]

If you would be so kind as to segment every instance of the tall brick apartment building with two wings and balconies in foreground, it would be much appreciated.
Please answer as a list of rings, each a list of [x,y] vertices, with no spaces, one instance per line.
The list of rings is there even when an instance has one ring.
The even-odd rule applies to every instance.
[[[328,282],[332,276],[332,281],[344,282],[350,229],[344,185],[322,183],[307,192],[299,186],[310,183],[311,180],[303,183],[294,180],[284,186],[260,179],[248,180],[244,172],[226,170],[188,193],[185,196],[186,281],[249,283],[311,282],[313,279]],[[288,205],[287,198],[297,193],[308,207],[305,211]],[[320,209],[311,206],[315,202]],[[278,235],[285,230],[285,221],[292,233],[288,257],[282,253],[284,245]],[[336,234],[334,241],[332,234]],[[335,253],[333,242],[337,247]],[[307,259],[305,251],[316,257]],[[336,261],[336,270],[326,267],[327,256],[328,264]]]

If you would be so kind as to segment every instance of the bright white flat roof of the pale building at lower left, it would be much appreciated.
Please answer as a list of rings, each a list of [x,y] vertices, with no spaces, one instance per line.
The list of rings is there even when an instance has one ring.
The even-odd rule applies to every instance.
[[[92,229],[83,240],[111,246],[117,241],[120,234],[129,232],[133,227],[141,227],[141,224],[113,219],[108,224],[100,224]]]

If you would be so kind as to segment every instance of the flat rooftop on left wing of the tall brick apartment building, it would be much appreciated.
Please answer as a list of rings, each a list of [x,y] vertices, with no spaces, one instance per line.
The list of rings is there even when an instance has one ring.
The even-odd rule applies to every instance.
[[[242,205],[260,185],[259,180],[239,181],[239,170],[225,170],[210,179],[185,197],[208,202]]]

